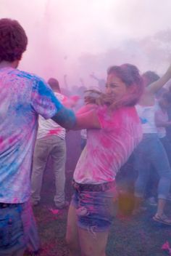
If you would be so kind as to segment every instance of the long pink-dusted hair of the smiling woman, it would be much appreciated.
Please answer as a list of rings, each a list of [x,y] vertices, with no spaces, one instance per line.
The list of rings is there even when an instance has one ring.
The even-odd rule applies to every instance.
[[[106,93],[97,90],[88,90],[89,95],[86,96],[86,103],[105,104],[109,108],[120,108],[122,106],[133,106],[138,103],[143,93],[143,79],[135,65],[123,64],[114,65],[107,69],[107,75],[114,74],[128,87],[128,93],[119,100],[114,98],[114,95],[107,95]]]

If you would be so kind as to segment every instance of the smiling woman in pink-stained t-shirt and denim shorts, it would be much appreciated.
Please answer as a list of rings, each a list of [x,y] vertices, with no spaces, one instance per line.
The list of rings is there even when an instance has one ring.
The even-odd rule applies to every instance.
[[[89,92],[87,105],[76,114],[75,129],[87,129],[88,137],[74,172],[67,219],[70,256],[106,255],[117,197],[115,176],[142,137],[134,108],[142,89],[134,65],[112,66],[106,93]]]

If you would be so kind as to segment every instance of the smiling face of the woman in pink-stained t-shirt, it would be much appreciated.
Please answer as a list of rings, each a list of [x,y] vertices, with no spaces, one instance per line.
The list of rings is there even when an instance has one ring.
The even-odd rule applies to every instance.
[[[126,84],[117,77],[114,73],[107,76],[106,93],[113,95],[115,99],[119,100],[128,92]]]

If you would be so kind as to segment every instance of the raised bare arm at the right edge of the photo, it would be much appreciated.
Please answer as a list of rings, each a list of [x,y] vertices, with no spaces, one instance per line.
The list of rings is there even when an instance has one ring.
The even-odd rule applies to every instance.
[[[166,73],[164,73],[164,75],[159,80],[154,81],[154,83],[150,84],[149,87],[146,88],[146,90],[148,90],[151,94],[155,94],[170,79],[171,79],[171,65],[167,69]]]

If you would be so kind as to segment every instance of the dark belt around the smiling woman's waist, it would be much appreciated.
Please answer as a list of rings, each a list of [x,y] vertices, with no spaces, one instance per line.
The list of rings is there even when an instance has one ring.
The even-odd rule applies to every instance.
[[[102,191],[107,191],[111,188],[114,188],[115,181],[110,181],[108,183],[101,183],[101,184],[83,184],[83,183],[76,183],[75,180],[72,180],[72,185],[77,191],[102,192]]]

